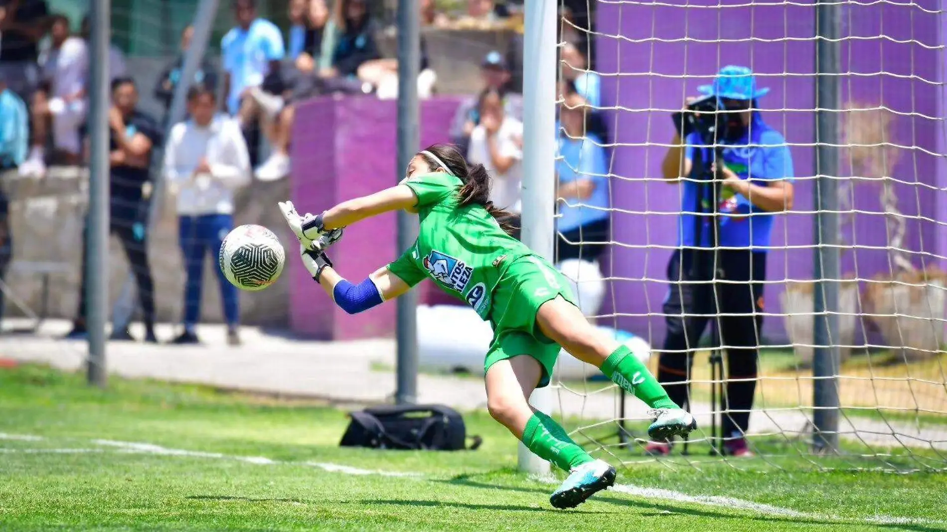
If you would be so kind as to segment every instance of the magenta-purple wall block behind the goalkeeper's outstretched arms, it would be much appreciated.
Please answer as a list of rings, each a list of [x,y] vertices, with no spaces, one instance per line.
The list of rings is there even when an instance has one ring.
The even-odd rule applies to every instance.
[[[456,98],[421,103],[422,147],[448,140],[457,105]],[[316,98],[300,105],[293,132],[291,176],[294,204],[300,214],[321,212],[345,200],[394,186],[403,173],[396,168],[397,117],[394,101],[376,98]],[[397,257],[400,251],[395,249],[395,230],[393,213],[346,229],[346,238],[332,248],[343,275],[362,279]],[[296,333],[327,340],[394,334],[394,305],[348,316],[313,283],[299,260],[288,262],[296,287],[290,294],[290,325]],[[420,289],[422,302],[443,299],[430,282],[422,283]]]

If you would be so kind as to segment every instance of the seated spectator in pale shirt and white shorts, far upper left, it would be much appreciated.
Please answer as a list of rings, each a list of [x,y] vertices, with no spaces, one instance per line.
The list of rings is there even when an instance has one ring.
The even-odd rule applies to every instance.
[[[88,47],[85,41],[70,34],[69,19],[63,15],[52,17],[50,40],[43,64],[43,82],[33,94],[33,147],[27,161],[20,166],[20,174],[24,176],[45,175],[45,146],[50,130],[55,159],[67,165],[78,165],[81,159],[80,128],[86,114]]]

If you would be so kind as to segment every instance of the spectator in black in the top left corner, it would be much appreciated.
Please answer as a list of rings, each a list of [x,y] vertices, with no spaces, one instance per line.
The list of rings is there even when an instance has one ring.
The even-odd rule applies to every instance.
[[[0,2],[0,77],[24,101],[39,82],[37,44],[46,33],[48,14],[45,0]]]

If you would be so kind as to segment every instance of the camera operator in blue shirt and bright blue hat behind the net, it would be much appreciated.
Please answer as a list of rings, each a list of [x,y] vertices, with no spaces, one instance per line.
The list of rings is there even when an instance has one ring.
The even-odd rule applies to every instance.
[[[758,98],[769,89],[757,88],[749,68],[725,66],[699,91],[705,98],[688,98],[679,121],[683,143],[675,135],[662,163],[664,179],[684,190],[678,249],[668,263],[658,380],[674,402],[689,402],[693,353],[708,321],[718,319],[727,362],[724,453],[748,456],[744,434],[756,389],[766,252],[773,215],[793,207],[793,161],[786,140],[759,114]],[[718,112],[694,114],[708,108]],[[667,454],[670,442],[652,443],[646,452]]]

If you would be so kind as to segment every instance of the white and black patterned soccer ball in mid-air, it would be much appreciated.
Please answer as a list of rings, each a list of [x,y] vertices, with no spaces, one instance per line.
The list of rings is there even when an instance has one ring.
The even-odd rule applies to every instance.
[[[283,272],[286,252],[273,231],[262,225],[247,224],[223,239],[217,261],[231,284],[256,292],[277,281]]]

